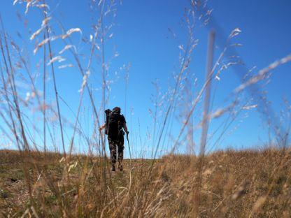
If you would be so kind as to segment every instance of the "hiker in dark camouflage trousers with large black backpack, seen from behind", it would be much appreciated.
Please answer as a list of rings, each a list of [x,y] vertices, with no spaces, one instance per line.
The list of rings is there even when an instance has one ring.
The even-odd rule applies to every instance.
[[[123,150],[125,149],[123,136],[125,133],[127,133],[127,136],[129,134],[129,131],[127,131],[127,122],[125,121],[125,117],[120,114],[120,108],[118,107],[113,108],[112,111],[110,109],[105,110],[105,114],[106,123],[100,127],[99,131],[105,128],[105,133],[108,136],[112,170],[115,171],[117,151],[118,169],[122,171]]]

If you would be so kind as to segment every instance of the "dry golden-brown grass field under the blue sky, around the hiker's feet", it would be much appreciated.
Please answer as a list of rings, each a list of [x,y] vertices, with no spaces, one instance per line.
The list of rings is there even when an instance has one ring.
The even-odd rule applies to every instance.
[[[125,160],[114,173],[98,157],[2,150],[0,161],[2,217],[291,216],[288,151]]]

